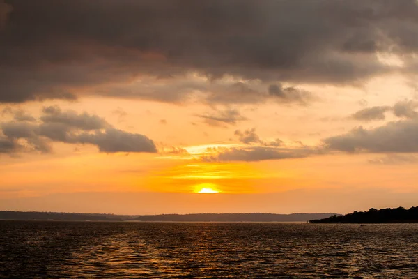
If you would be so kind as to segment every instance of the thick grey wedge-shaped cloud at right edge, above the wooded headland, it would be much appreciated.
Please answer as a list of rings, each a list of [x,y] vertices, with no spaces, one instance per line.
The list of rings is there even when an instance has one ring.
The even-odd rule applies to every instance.
[[[389,122],[383,126],[354,128],[349,133],[323,140],[328,149],[345,152],[418,152],[418,119]]]

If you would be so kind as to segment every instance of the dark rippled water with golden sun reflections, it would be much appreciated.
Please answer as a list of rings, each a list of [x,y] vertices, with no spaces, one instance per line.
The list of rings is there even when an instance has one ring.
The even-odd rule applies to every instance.
[[[1,278],[418,278],[418,224],[0,221]]]

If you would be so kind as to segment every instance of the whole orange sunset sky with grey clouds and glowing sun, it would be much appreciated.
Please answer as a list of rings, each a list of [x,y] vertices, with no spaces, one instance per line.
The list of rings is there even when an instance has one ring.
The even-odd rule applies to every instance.
[[[417,206],[417,77],[415,0],[0,0],[0,210]]]

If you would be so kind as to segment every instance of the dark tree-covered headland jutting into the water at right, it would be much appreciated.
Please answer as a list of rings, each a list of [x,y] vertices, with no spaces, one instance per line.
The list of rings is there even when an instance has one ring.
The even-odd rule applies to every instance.
[[[418,207],[380,210],[372,208],[369,211],[354,211],[346,215],[310,220],[309,223],[418,223]]]

